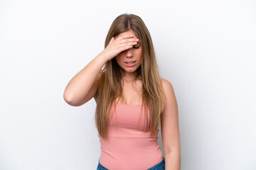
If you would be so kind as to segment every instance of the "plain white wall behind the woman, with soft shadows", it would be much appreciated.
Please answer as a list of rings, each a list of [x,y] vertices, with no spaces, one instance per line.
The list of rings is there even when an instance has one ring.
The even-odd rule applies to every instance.
[[[122,13],[142,18],[174,86],[181,169],[256,169],[252,0],[1,0],[0,169],[96,169],[96,103],[69,106],[63,92]]]

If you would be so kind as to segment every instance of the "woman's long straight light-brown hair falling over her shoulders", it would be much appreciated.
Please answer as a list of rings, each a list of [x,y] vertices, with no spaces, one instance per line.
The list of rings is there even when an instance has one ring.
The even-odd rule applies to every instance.
[[[161,85],[161,77],[156,64],[151,35],[142,18],[134,14],[124,13],[113,21],[105,40],[105,47],[113,36],[132,29],[141,40],[142,64],[137,69],[137,77],[142,80],[142,106],[145,107],[144,117],[146,120],[146,130],[151,130],[150,137],[156,137],[159,128],[161,112],[164,110],[164,89]],[[102,76],[97,84],[95,100],[97,103],[95,111],[95,124],[99,135],[107,139],[107,125],[110,120],[110,109],[116,98],[122,96],[122,76],[124,69],[119,67],[115,57],[105,63],[101,70]],[[149,109],[150,119],[148,120],[147,109]]]

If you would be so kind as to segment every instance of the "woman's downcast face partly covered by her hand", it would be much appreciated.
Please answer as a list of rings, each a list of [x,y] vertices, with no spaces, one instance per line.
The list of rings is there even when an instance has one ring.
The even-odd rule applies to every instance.
[[[127,30],[124,33],[120,33],[117,37],[121,35],[134,35],[133,38],[137,38],[133,30]],[[116,37],[116,38],[117,38]],[[139,39],[139,38],[138,38]],[[115,58],[119,67],[125,70],[125,72],[135,72],[137,68],[142,64],[142,47],[141,41],[137,42],[137,45],[134,45],[132,48],[128,50],[122,51]],[[127,62],[134,62],[132,64],[127,64]]]

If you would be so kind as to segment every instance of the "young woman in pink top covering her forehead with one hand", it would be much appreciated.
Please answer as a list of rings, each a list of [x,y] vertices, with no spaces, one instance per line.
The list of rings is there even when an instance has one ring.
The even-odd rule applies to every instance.
[[[98,170],[180,169],[174,89],[159,75],[149,30],[139,16],[124,13],[114,20],[105,50],[70,80],[63,97],[71,106],[95,98]],[[160,120],[164,156],[157,143]]]

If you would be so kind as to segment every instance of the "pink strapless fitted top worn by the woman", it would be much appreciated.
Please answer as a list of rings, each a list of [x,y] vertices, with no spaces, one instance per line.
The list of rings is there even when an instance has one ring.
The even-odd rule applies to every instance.
[[[142,132],[143,128],[146,128],[144,106],[117,103],[116,112],[108,125],[109,138],[104,140],[98,134],[100,164],[110,170],[146,170],[161,162],[163,157],[158,137],[149,137],[151,131]]]

